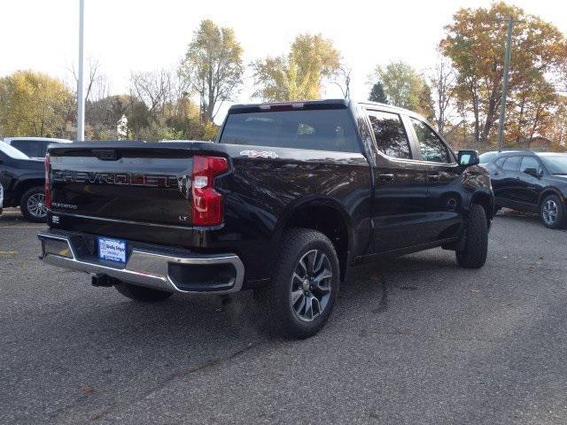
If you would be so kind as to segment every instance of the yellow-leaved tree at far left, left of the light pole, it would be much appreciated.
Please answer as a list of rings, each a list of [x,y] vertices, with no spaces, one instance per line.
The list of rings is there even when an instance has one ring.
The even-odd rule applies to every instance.
[[[0,79],[0,134],[65,136],[73,95],[44,73],[18,71]]]

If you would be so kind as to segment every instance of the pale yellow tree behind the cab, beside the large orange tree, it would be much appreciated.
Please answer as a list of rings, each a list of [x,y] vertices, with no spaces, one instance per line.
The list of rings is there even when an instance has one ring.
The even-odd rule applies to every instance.
[[[431,89],[412,66],[401,61],[377,66],[374,77],[382,82],[389,104],[419,112],[427,118],[434,116]]]

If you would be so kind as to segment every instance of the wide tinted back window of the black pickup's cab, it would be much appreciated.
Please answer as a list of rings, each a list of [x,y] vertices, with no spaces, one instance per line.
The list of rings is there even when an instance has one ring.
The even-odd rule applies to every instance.
[[[346,109],[230,113],[220,143],[361,151]]]

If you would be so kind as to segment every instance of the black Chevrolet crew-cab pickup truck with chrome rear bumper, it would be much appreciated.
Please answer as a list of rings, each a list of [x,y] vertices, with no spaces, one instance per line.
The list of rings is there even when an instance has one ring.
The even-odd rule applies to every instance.
[[[477,164],[384,104],[234,105],[215,143],[52,145],[43,259],[144,302],[252,289],[273,330],[311,336],[358,262],[442,246],[484,265]]]

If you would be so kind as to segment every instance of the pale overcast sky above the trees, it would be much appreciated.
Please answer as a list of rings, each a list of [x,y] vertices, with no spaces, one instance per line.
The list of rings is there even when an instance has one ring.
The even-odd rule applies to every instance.
[[[567,2],[515,0],[525,12],[567,33]],[[378,64],[404,60],[431,67],[443,27],[460,7],[488,0],[85,0],[86,58],[96,58],[111,93],[128,89],[131,71],[177,66],[201,19],[233,27],[245,63],[287,51],[294,36],[322,33],[352,72],[352,97],[366,98],[368,75]],[[18,69],[49,73],[68,83],[78,49],[78,0],[3,0],[0,5],[0,76]],[[237,95],[249,102],[252,81]],[[340,97],[329,86],[323,97]]]

